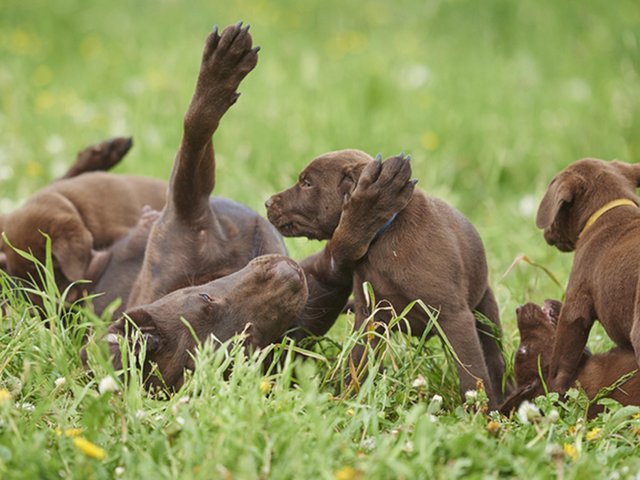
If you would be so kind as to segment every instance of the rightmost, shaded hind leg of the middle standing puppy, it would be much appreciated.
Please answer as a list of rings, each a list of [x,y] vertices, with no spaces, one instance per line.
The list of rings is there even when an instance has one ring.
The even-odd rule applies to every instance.
[[[502,335],[502,326],[500,325],[498,304],[491,288],[487,287],[482,300],[480,300],[475,309],[493,324],[487,325],[476,319],[476,329],[478,330],[482,352],[484,353],[484,359],[493,384],[494,395],[496,401],[502,402],[505,396],[511,392],[512,385],[511,382],[507,381],[504,392],[502,391],[505,365],[499,339],[497,338],[497,336]]]

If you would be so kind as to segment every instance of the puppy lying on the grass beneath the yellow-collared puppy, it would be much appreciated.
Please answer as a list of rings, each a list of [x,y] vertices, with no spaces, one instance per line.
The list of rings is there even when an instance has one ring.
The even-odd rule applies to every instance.
[[[520,346],[514,365],[517,389],[500,407],[505,415],[524,400],[544,394],[540,374],[546,381],[560,307],[560,302],[546,300],[543,308],[527,303],[516,310],[520,330]],[[578,362],[577,381],[589,399],[594,399],[602,389],[615,384],[615,388],[606,394],[607,397],[623,405],[640,405],[640,375],[637,371],[635,356],[630,349],[618,347],[597,355],[584,350]],[[629,374],[629,378],[618,383]],[[601,405],[591,405],[589,417],[594,417],[602,409]]]

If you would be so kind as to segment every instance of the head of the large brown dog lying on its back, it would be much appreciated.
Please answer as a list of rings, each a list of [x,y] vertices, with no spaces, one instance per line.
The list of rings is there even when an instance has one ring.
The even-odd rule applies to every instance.
[[[127,326],[131,321],[146,340],[146,384],[180,388],[184,370],[194,367],[197,342],[211,337],[224,342],[244,332],[247,346],[265,347],[284,335],[306,300],[304,272],[293,260],[281,255],[255,258],[231,275],[176,290],[128,311],[109,328],[114,367],[122,366],[117,335],[132,332]],[[133,345],[134,352],[139,348]],[[152,364],[162,380],[149,376]]]

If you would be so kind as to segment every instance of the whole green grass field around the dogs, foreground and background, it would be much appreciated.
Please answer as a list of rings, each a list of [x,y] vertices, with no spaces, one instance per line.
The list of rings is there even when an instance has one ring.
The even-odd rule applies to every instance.
[[[418,186],[480,231],[511,357],[515,307],[563,290],[523,262],[505,272],[526,255],[564,285],[571,265],[535,227],[546,185],[578,158],[638,161],[638,3],[5,0],[0,212],[113,135],[135,139],[118,171],[167,178],[204,39],[238,20],[262,50],[215,137],[216,194],[264,213],[320,153],[409,153]],[[288,246],[294,258],[321,248]],[[103,362],[89,378],[78,359],[86,327],[101,321],[84,312],[63,327],[52,313],[46,328],[3,282],[12,308],[0,324],[2,478],[640,474],[640,409],[587,422],[577,395],[540,399],[543,417],[479,413],[479,400],[460,405],[437,340],[418,349],[392,336],[386,368],[358,395],[340,395],[348,316],[307,360],[276,347],[287,359],[266,376],[259,358],[205,351],[168,401],[135,378],[101,394],[113,372]],[[609,345],[596,328],[592,349]]]

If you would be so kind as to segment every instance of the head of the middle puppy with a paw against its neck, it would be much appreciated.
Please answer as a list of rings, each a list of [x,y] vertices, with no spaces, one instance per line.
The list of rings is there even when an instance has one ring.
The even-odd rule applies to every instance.
[[[359,150],[321,155],[302,171],[293,187],[267,200],[269,221],[287,237],[331,238],[344,204],[372,160]]]

